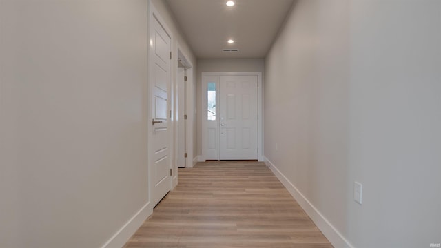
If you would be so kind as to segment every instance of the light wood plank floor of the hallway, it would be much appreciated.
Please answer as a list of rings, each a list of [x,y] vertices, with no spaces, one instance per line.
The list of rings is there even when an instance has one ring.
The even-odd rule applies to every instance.
[[[324,248],[329,241],[264,163],[179,169],[179,184],[130,238],[134,247]]]

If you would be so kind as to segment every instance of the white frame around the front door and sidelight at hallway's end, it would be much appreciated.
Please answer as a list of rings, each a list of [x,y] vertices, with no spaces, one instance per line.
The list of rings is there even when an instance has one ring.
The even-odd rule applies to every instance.
[[[257,76],[257,112],[258,112],[258,120],[257,120],[257,157],[258,161],[263,161],[263,79],[262,72],[202,72],[201,76],[201,137],[202,137],[202,155],[198,158],[199,162],[206,161],[206,151],[205,147],[207,147],[207,135],[205,134],[205,130],[207,130],[207,85],[205,84],[205,79],[207,77],[217,77],[216,83],[220,83],[220,76]],[[218,86],[216,85],[216,89]],[[219,98],[216,93],[216,105],[218,105]],[[219,120],[216,119],[217,126],[219,128]],[[217,138],[218,141],[218,138]],[[217,154],[219,155],[219,154]],[[219,156],[218,156],[219,158]]]

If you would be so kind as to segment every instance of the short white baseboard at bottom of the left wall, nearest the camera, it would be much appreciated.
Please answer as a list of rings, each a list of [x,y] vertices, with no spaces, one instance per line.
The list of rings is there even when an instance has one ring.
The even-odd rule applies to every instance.
[[[121,248],[125,245],[127,240],[135,233],[136,230],[141,227],[144,220],[152,214],[152,209],[150,207],[150,202],[145,204],[139,211],[130,218],[121,229],[116,231],[116,234],[112,236],[101,248]]]

